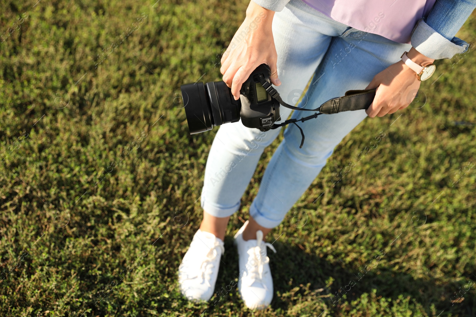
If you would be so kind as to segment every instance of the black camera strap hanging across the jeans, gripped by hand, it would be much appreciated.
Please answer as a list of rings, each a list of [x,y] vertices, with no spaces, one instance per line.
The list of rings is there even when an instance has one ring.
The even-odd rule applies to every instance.
[[[301,127],[296,124],[296,122],[298,121],[304,122],[310,119],[315,119],[317,118],[318,115],[322,115],[322,114],[330,115],[330,114],[335,114],[342,111],[354,111],[354,110],[367,109],[370,106],[370,104],[372,104],[372,101],[374,100],[375,92],[376,92],[376,89],[349,90],[346,92],[345,96],[329,99],[325,103],[323,103],[321,106],[317,107],[316,109],[304,109],[304,108],[299,108],[296,106],[291,106],[285,103],[283,99],[281,99],[281,96],[279,96],[278,91],[273,86],[271,86],[271,84],[265,79],[263,74],[259,74],[258,77],[259,77],[259,81],[261,85],[266,89],[268,94],[271,95],[273,98],[275,98],[281,106],[289,108],[289,109],[293,109],[293,110],[299,110],[299,111],[319,111],[319,113],[316,112],[313,115],[309,115],[301,119],[289,119],[278,125],[274,124],[271,126],[271,129],[277,129],[291,123],[296,125],[299,128],[299,131],[301,132],[301,136],[302,136],[301,145],[299,146],[299,148],[302,148],[304,144],[304,132],[302,131]]]

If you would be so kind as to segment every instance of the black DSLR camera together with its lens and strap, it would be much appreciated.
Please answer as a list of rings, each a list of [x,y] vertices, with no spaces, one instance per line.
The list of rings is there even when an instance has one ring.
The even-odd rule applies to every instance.
[[[205,86],[203,83],[180,86],[190,134],[211,130],[214,125],[237,122],[240,118],[244,126],[261,131],[277,129],[292,123],[301,132],[302,139],[299,148],[302,148],[304,132],[296,122],[315,119],[322,114],[330,115],[342,111],[367,109],[372,104],[376,93],[375,89],[348,90],[345,96],[329,99],[316,109],[298,108],[288,105],[281,99],[278,91],[269,83],[270,76],[268,65],[259,65],[241,86],[241,96],[238,100],[232,98],[231,89],[223,81],[208,82]],[[291,118],[275,124],[276,121],[281,120],[279,106],[292,110],[316,112],[300,119]]]

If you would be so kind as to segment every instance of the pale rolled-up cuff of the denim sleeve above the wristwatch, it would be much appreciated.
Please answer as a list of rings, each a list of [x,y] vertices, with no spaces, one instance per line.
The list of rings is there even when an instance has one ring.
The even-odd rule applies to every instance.
[[[469,44],[462,39],[451,41],[432,29],[424,19],[417,22],[411,37],[412,46],[421,54],[433,59],[452,58],[455,54],[465,53]]]

